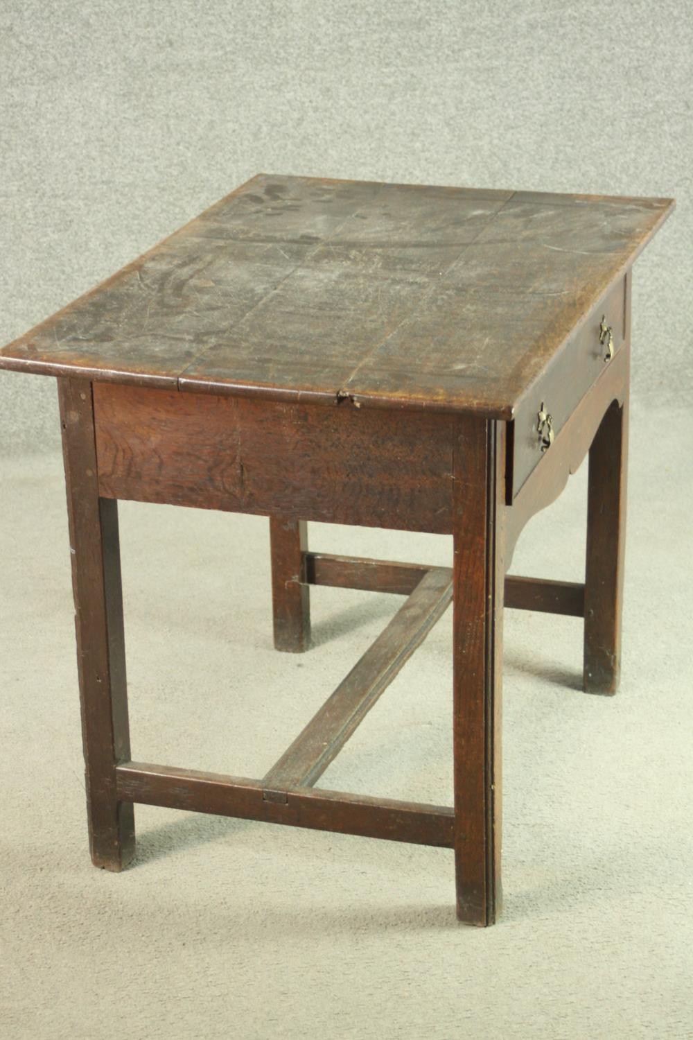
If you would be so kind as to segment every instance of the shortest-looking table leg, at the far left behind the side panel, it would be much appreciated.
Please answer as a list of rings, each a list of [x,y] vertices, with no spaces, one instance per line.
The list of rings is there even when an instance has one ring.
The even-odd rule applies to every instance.
[[[269,518],[272,558],[274,646],[299,653],[311,645],[310,589],[303,578],[308,524],[286,517]]]

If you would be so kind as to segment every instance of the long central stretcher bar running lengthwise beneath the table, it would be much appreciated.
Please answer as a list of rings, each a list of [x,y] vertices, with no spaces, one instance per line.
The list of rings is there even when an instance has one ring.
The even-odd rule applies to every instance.
[[[266,791],[312,786],[443,616],[452,574],[430,570],[335,693],[267,773]]]

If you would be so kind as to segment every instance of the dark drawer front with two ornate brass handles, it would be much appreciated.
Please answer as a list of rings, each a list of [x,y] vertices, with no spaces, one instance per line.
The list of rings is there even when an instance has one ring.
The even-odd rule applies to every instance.
[[[605,360],[608,357],[609,334],[602,332],[603,316],[605,324],[611,329],[614,355],[623,345],[625,288],[625,278],[622,278],[609,290],[517,407],[508,445],[512,452],[512,498],[543,458],[542,438],[537,428],[539,412],[543,410],[551,417],[551,428],[557,437],[566,419],[609,364]],[[544,424],[544,434],[545,431]]]

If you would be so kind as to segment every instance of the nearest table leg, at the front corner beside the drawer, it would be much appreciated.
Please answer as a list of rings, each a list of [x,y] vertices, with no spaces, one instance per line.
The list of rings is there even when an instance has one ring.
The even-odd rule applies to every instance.
[[[457,916],[501,911],[505,425],[465,419],[454,479],[453,733]]]

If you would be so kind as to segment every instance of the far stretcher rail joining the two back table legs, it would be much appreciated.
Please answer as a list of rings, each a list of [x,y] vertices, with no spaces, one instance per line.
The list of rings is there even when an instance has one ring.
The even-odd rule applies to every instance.
[[[399,564],[390,560],[365,560],[328,552],[305,552],[304,567],[305,580],[310,584],[400,596],[410,595],[423,575],[433,569],[426,564]],[[585,586],[575,581],[550,581],[509,574],[505,579],[505,606],[581,618],[585,610]]]

